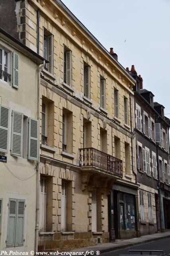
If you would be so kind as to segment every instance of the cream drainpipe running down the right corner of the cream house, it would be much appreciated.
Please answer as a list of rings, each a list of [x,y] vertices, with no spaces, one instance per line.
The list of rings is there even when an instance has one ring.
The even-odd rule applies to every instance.
[[[39,66],[38,71],[38,120],[40,123],[40,71],[45,66],[45,60],[43,64]],[[39,134],[38,134],[39,136]],[[38,148],[40,148],[40,137],[38,138]],[[37,162],[37,202],[36,202],[36,226],[35,226],[35,253],[38,250],[38,231],[39,231],[39,187],[40,187],[40,155]]]

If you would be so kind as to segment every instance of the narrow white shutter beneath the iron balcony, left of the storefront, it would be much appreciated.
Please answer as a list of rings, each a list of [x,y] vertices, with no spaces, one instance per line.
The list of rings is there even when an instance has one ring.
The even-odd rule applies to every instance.
[[[97,232],[97,190],[92,190],[92,232]]]

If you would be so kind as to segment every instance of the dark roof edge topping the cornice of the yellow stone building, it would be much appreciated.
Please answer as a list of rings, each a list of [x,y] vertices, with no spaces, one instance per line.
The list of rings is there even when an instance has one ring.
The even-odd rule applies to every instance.
[[[131,76],[131,74],[129,74],[129,72],[127,72],[127,70],[113,57],[111,56],[111,54],[106,50],[106,48],[104,48],[104,46],[97,40],[97,38],[82,24],[82,22],[80,22],[80,20],[78,20],[78,18],[76,18],[76,16],[65,6],[65,4],[63,4],[63,2],[61,0],[55,0],[67,13],[69,16],[71,16],[71,18],[96,42],[96,44],[98,44],[102,50],[104,50],[106,52],[106,54],[109,55],[109,57],[117,63],[117,65],[123,69],[123,71],[127,74],[127,76],[129,76],[131,78],[131,80],[133,80],[134,82],[136,82],[136,80]]]

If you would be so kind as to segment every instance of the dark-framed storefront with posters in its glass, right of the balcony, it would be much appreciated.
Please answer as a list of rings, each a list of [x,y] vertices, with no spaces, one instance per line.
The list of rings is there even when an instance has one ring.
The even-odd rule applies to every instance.
[[[111,198],[112,236],[114,233],[115,239],[137,237],[139,234],[137,188],[114,184]]]

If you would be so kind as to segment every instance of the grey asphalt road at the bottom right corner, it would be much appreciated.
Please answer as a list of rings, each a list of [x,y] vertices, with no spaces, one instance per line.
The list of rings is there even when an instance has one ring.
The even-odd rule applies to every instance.
[[[102,256],[119,256],[121,254],[128,254],[128,250],[140,250],[140,249],[141,250],[163,250],[164,256],[170,256],[170,238],[165,238],[165,239],[157,240],[147,244],[141,244],[138,246],[132,246],[132,247],[128,247],[121,250],[115,250],[112,252],[106,252],[106,253],[103,253]],[[140,255],[139,252],[137,254]],[[152,253],[152,255],[157,255],[157,254]],[[158,254],[158,256],[160,255],[162,254]]]

